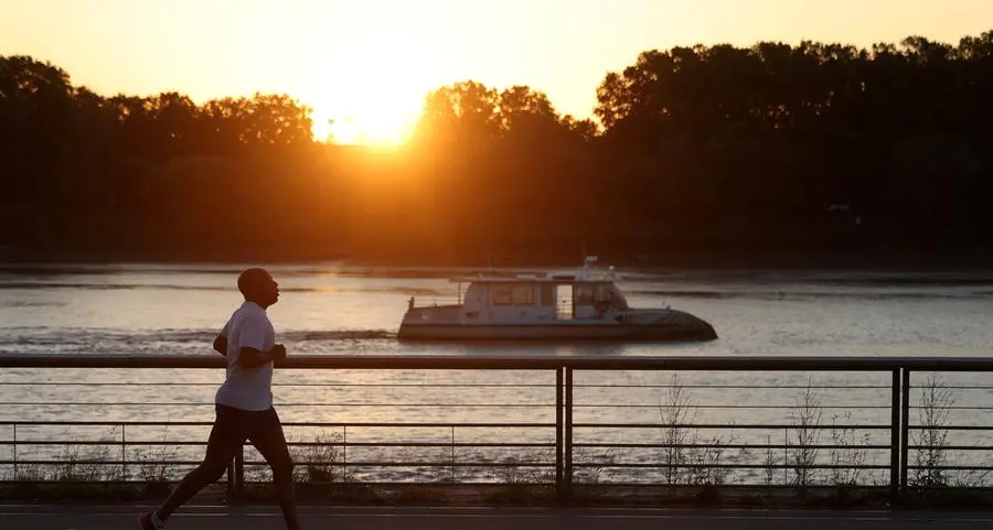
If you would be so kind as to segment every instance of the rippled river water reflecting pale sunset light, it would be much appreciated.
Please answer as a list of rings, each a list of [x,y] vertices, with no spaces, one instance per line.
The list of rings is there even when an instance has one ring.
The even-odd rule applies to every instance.
[[[231,266],[63,266],[0,270],[0,353],[214,355],[211,339],[241,299],[239,268]],[[993,326],[993,271],[624,271],[619,285],[636,307],[672,305],[711,322],[719,339],[670,345],[563,344],[418,345],[398,343],[395,333],[407,299],[447,302],[456,295],[447,279],[467,271],[370,268],[340,263],[277,266],[280,302],[269,310],[278,334],[292,354],[349,355],[734,355],[734,356],[989,356]],[[579,372],[577,422],[660,423],[671,374]],[[953,388],[949,422],[993,424],[991,378],[946,375]],[[7,370],[0,374],[0,421],[24,420],[210,420],[221,370]],[[285,421],[489,421],[552,422],[554,397],[545,374],[334,371],[277,374],[275,399]],[[305,383],[305,386],[299,386]],[[516,385],[494,392],[493,387]],[[889,421],[888,374],[681,374],[683,399],[696,423],[761,423],[796,418],[805,385],[880,387],[839,391],[814,389],[822,423]],[[922,377],[915,385],[922,385]],[[440,386],[439,386],[440,385]],[[458,387],[456,385],[463,385]],[[617,385],[624,387],[618,388]],[[739,388],[723,388],[735,386]],[[722,388],[715,388],[722,387]],[[970,387],[970,388],[958,388]],[[917,404],[920,390],[914,396]],[[479,405],[479,407],[473,407]],[[483,407],[489,405],[489,407]],[[498,405],[498,407],[493,407]],[[732,405],[732,407],[728,407]],[[845,414],[851,414],[845,420]],[[916,412],[914,413],[916,420]],[[0,429],[4,429],[0,426]],[[11,428],[8,425],[8,431]],[[149,428],[151,429],[151,428]],[[158,431],[130,428],[128,440],[162,437]],[[297,432],[299,431],[299,432]],[[300,428],[290,437],[313,436]],[[309,432],[305,433],[305,431]],[[333,429],[329,429],[333,431]],[[387,430],[352,429],[350,442],[387,440],[492,441],[500,436],[548,441],[545,430]],[[395,431],[395,430],[394,430]],[[526,432],[525,432],[526,431]],[[75,435],[86,436],[82,428]],[[197,440],[204,428],[170,428],[169,437]],[[782,443],[783,430],[701,431],[732,436],[737,443]],[[64,434],[64,433],[61,433]],[[842,433],[846,435],[845,433]],[[847,433],[888,442],[888,431]],[[119,434],[117,434],[119,436]],[[51,428],[21,426],[19,440],[53,436]],[[11,433],[7,434],[11,439]],[[647,442],[656,431],[577,429],[577,442]],[[993,445],[982,432],[952,431],[967,445]],[[778,440],[773,440],[778,439]],[[730,439],[723,439],[725,443]],[[821,435],[831,443],[831,434]],[[8,444],[0,452],[11,453]],[[21,457],[29,451],[20,447]],[[42,451],[42,448],[38,448]],[[381,450],[349,450],[350,459],[382,457]],[[381,451],[376,453],[375,451]],[[412,450],[413,451],[413,450]],[[445,457],[452,457],[445,451]],[[636,452],[637,453],[637,452]],[[630,453],[633,461],[651,454]],[[888,458],[869,451],[867,461]],[[42,453],[39,453],[42,454]],[[409,453],[413,454],[413,453]],[[425,453],[427,455],[427,453]],[[453,454],[453,453],[452,453]],[[476,454],[476,453],[473,453]],[[409,456],[409,455],[408,455]],[[429,457],[427,455],[425,457]],[[437,457],[437,455],[435,455]],[[478,456],[478,454],[477,454]],[[825,455],[822,455],[826,457]],[[756,458],[755,454],[748,456]],[[761,455],[766,459],[767,455]],[[778,456],[782,457],[782,455]],[[957,456],[965,458],[965,456]],[[969,459],[987,458],[969,453]],[[369,472],[373,473],[373,472]],[[417,470],[381,470],[380,478],[406,479]],[[746,474],[747,475],[747,474]],[[751,478],[755,478],[751,475]],[[748,476],[746,476],[748,478]]]

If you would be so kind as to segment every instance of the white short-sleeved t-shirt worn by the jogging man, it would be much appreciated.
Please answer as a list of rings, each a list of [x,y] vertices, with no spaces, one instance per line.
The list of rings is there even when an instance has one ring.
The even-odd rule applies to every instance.
[[[243,347],[268,351],[276,345],[276,329],[269,315],[255,302],[245,302],[224,324],[221,334],[227,337],[227,378],[215,402],[235,409],[260,411],[273,405],[273,363],[255,368],[238,364]]]

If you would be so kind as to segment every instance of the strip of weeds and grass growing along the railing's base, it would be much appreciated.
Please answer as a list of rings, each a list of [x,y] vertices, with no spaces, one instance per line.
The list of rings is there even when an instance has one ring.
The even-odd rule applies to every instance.
[[[938,377],[921,387],[916,424],[911,430],[911,468],[908,488],[896,505],[888,484],[865,469],[871,452],[867,433],[850,425],[851,413],[831,414],[814,391],[812,380],[796,397],[782,430],[782,442],[767,435],[756,447],[737,436],[707,434],[696,426],[695,397],[673,376],[659,405],[656,447],[649,456],[631,448],[575,447],[569,497],[555,488],[549,451],[519,451],[499,457],[457,455],[455,435],[445,457],[417,473],[408,484],[365,482],[348,462],[341,432],[320,432],[295,440],[295,480],[301,502],[339,505],[553,505],[560,502],[638,506],[757,506],[757,507],[865,507],[928,506],[931,508],[991,508],[993,498],[981,488],[986,473],[949,469],[950,412],[953,396]],[[733,428],[734,425],[725,425]],[[822,444],[825,433],[830,442]],[[162,443],[151,448],[121,453],[120,436],[111,431],[98,443],[66,443],[51,463],[18,463],[0,484],[0,501],[115,501],[164,498],[184,469],[172,464],[178,450]],[[888,450],[886,450],[888,454]],[[648,458],[648,459],[645,459]],[[649,462],[655,473],[651,484],[624,485],[619,467]],[[740,467],[750,466],[757,480],[746,484]],[[471,477],[473,470],[485,473]],[[888,470],[886,470],[888,478]],[[267,466],[246,466],[244,502],[273,502]],[[468,482],[472,478],[474,482]],[[225,499],[226,486],[207,488],[201,499]]]

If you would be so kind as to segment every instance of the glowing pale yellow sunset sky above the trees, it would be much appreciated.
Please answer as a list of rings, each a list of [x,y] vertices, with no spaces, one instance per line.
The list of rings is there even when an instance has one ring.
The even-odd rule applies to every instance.
[[[320,139],[391,143],[426,91],[457,80],[526,84],[585,118],[606,73],[644,50],[991,29],[993,0],[4,0],[0,53],[102,94],[288,93],[314,108]]]

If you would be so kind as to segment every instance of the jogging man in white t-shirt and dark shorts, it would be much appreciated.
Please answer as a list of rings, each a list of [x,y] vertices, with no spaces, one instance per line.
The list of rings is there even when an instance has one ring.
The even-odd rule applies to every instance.
[[[141,530],[162,529],[177,508],[217,482],[246,440],[273,468],[286,528],[300,530],[293,501],[292,461],[273,408],[273,363],[286,358],[286,347],[276,344],[276,331],[266,310],[279,300],[279,285],[265,269],[254,268],[238,275],[238,290],[245,302],[214,339],[214,349],[227,357],[227,378],[214,398],[216,419],[206,456],[162,506],[138,517]]]

